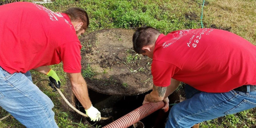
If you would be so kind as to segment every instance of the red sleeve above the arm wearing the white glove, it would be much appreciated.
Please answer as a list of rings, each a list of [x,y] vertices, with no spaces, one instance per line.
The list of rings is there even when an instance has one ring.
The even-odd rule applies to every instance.
[[[80,42],[68,42],[59,47],[60,58],[63,62],[63,70],[67,73],[81,72],[81,52]]]

